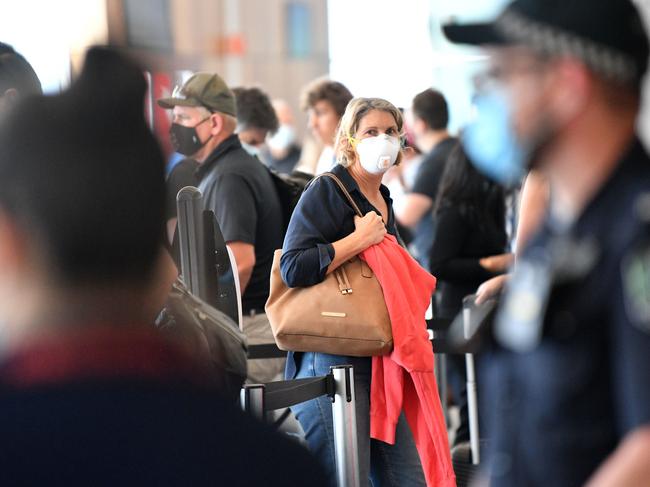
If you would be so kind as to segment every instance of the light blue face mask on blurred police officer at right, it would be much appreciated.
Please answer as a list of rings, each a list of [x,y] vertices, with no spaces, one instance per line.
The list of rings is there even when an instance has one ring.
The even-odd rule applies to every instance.
[[[482,93],[475,99],[476,118],[465,128],[463,147],[474,166],[504,186],[521,181],[528,151],[514,133],[510,106],[501,90]]]

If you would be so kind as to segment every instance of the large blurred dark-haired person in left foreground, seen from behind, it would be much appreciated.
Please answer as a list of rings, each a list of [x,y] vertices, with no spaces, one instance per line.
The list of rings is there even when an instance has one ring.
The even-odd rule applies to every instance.
[[[140,67],[95,48],[68,91],[25,98],[0,125],[0,478],[322,485],[302,448],[153,327],[169,281],[145,90]]]

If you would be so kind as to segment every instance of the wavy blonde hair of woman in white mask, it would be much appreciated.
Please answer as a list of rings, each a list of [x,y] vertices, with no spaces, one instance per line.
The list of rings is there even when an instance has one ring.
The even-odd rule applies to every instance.
[[[363,117],[372,110],[390,113],[393,116],[401,142],[404,119],[402,112],[395,105],[383,98],[354,98],[348,103],[345,113],[341,117],[341,122],[336,133],[336,141],[334,142],[336,162],[341,166],[349,167],[356,160],[356,152],[350,138],[354,137],[357,130],[359,130],[359,125]],[[402,151],[400,150],[395,165],[401,161]]]

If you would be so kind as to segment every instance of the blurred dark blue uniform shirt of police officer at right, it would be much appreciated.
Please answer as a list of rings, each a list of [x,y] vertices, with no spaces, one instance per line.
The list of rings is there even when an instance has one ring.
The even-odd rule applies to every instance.
[[[650,159],[635,140],[578,219],[517,262],[481,363],[492,486],[578,486],[650,425]]]

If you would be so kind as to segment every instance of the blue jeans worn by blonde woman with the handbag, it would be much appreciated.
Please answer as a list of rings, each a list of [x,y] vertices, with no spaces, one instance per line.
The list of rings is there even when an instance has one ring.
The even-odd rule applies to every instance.
[[[370,480],[373,487],[424,487],[420,458],[403,413],[397,424],[394,445],[370,439],[370,358],[304,353],[296,377],[325,375],[331,365],[344,364],[354,367],[361,485],[368,485]],[[319,397],[293,406],[291,410],[305,431],[309,449],[323,465],[330,484],[336,486],[331,400]]]

